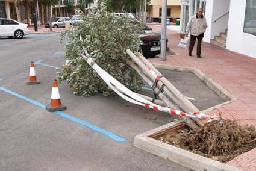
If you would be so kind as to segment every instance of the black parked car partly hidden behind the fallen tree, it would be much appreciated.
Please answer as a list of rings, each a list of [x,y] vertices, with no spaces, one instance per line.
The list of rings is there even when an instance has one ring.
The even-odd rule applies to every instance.
[[[153,58],[160,54],[161,51],[161,34],[153,32],[146,25],[142,26],[142,34],[140,34],[140,52],[145,58]],[[168,39],[166,39],[166,46]]]

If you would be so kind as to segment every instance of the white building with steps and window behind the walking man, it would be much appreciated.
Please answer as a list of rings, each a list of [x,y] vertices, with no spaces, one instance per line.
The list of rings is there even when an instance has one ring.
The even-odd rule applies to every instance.
[[[183,0],[181,32],[198,7],[207,19],[205,42],[256,58],[256,0]]]

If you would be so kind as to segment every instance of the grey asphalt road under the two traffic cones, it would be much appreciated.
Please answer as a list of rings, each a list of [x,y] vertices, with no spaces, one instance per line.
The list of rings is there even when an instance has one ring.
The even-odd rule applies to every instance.
[[[58,34],[0,38],[0,170],[187,170],[133,147],[134,136],[166,124],[168,114],[117,96],[75,96],[67,82],[59,84],[67,110],[46,111],[63,52]],[[39,85],[25,84],[30,61]]]

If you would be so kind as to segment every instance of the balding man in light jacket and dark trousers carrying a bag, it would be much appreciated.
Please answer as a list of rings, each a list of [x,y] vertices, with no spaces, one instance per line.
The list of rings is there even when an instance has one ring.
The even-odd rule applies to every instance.
[[[198,39],[198,46],[196,47],[196,56],[198,58],[201,57],[201,45],[202,45],[202,38],[204,37],[205,30],[207,29],[207,23],[205,17],[202,15],[203,10],[202,8],[198,9],[198,13],[196,16],[192,16],[187,23],[186,27],[186,36],[190,32],[190,43],[189,43],[189,56],[192,56],[192,51]]]

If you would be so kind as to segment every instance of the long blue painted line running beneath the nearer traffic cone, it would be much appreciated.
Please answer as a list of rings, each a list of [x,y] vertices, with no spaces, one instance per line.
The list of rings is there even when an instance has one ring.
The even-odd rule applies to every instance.
[[[23,99],[23,100],[25,100],[27,102],[30,102],[31,104],[37,105],[38,107],[45,108],[44,104],[42,104],[40,102],[37,102],[37,101],[35,101],[33,99],[30,99],[30,98],[28,98],[26,96],[20,95],[19,93],[13,92],[13,91],[11,91],[9,89],[6,89],[4,87],[0,87],[0,90],[2,90],[3,92],[9,93],[10,95],[16,96],[16,97],[18,97],[20,99]],[[87,128],[90,128],[93,131],[96,131],[96,132],[99,132],[99,133],[101,133],[103,135],[106,135],[107,137],[110,137],[113,140],[116,140],[116,141],[119,141],[119,142],[126,141],[126,139],[123,138],[123,137],[119,137],[118,135],[115,135],[115,134],[113,134],[111,132],[108,132],[108,131],[102,129],[102,128],[99,128],[98,126],[92,125],[89,122],[86,122],[84,120],[78,119],[77,117],[74,117],[74,116],[70,116],[69,114],[63,113],[62,111],[55,111],[54,114],[57,114],[58,116],[62,116],[64,118],[68,119],[68,120],[72,120],[73,122],[76,122],[76,123],[78,123],[80,125],[86,126]]]

